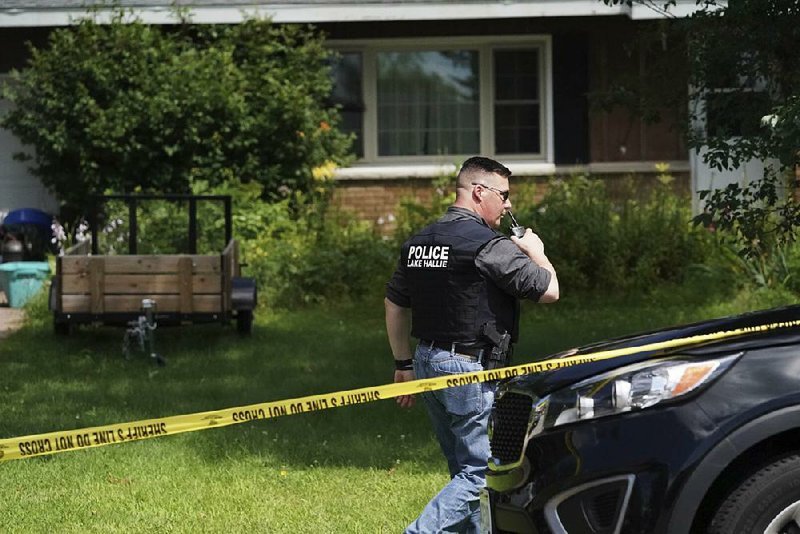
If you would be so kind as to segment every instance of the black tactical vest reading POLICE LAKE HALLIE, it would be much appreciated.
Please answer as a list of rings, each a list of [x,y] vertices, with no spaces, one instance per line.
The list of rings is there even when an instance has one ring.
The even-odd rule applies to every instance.
[[[486,342],[481,326],[496,324],[517,338],[517,300],[487,280],[475,256],[502,236],[470,217],[436,222],[403,245],[411,293],[411,333],[418,339]]]

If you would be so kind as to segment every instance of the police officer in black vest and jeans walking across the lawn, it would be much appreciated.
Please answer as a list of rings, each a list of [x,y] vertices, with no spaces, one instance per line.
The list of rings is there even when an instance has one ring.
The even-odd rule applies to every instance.
[[[518,299],[558,300],[558,279],[541,239],[530,229],[519,238],[496,231],[511,209],[510,175],[494,160],[469,158],[456,177],[455,203],[403,245],[385,298],[395,382],[483,370],[496,349],[487,331],[517,338]],[[413,359],[409,334],[419,340]],[[493,386],[469,384],[422,397],[451,480],[406,532],[477,532]],[[397,402],[410,407],[414,397]]]

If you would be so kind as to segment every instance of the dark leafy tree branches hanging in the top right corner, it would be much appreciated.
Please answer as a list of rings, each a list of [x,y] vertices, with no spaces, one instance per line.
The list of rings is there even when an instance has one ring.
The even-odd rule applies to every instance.
[[[656,11],[675,5],[665,0],[603,3]],[[703,148],[704,160],[717,169],[753,158],[776,158],[791,168],[800,148],[800,4],[695,4],[691,16],[641,25],[639,47],[656,53],[647,57],[643,72],[617,76],[593,94],[593,103],[606,110],[622,106],[645,120],[671,109],[683,118],[689,146]],[[776,120],[764,125],[761,118],[769,115]]]

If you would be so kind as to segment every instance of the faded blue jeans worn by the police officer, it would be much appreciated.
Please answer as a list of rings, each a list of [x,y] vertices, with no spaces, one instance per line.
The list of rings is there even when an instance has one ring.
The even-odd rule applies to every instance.
[[[447,350],[417,346],[414,372],[418,379],[482,371],[480,362]],[[486,434],[494,385],[468,384],[421,394],[439,440],[450,483],[422,510],[406,534],[478,532],[479,491],[486,484],[489,437]]]

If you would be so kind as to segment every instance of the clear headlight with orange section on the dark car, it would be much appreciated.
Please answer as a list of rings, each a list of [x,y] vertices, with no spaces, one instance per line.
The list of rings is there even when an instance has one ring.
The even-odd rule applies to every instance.
[[[541,399],[532,434],[576,421],[643,410],[710,384],[741,355],[647,361],[593,376]]]

